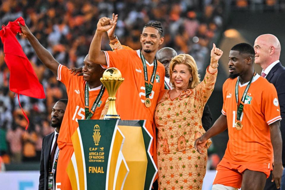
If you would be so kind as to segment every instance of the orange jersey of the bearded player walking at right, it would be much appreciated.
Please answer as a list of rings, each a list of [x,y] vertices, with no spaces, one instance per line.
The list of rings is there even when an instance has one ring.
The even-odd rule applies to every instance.
[[[236,82],[237,78],[227,79],[223,85],[222,114],[227,116],[229,132],[229,142],[223,159],[233,164],[256,163],[262,168],[272,169],[273,147],[269,125],[281,120],[276,89],[260,75],[254,77],[248,89],[240,119],[243,128],[238,130],[235,128]],[[238,85],[238,104],[247,84]]]

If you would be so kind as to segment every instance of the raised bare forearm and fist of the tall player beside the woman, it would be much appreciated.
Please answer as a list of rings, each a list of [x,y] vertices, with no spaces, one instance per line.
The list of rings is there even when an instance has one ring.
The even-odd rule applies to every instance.
[[[118,17],[115,17],[112,21],[110,18],[103,17],[98,21],[97,29],[89,49],[90,61],[101,65],[107,65],[106,55],[101,51],[102,36],[117,23],[117,19]]]

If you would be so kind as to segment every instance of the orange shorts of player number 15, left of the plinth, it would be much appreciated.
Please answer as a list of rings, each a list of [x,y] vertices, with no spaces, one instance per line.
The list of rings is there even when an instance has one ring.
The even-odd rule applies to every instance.
[[[56,187],[61,190],[71,190],[72,186],[66,169],[74,150],[72,145],[65,145],[60,149],[56,167]]]

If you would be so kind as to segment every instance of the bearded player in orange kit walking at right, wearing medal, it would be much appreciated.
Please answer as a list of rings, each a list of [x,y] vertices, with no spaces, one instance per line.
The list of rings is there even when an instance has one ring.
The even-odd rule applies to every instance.
[[[229,141],[217,166],[212,189],[260,190],[272,170],[280,187],[283,166],[280,107],[273,84],[254,72],[254,49],[237,44],[229,53],[229,79],[223,85],[222,115],[195,141],[201,151],[206,141],[228,129]]]

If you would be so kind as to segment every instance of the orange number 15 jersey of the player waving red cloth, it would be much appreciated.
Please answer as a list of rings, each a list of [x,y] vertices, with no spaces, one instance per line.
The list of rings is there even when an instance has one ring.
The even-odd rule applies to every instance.
[[[62,120],[60,133],[58,135],[58,147],[62,148],[64,145],[72,145],[71,136],[78,127],[78,119],[85,119],[85,97],[84,89],[86,81],[83,76],[77,76],[70,73],[70,70],[63,65],[58,66],[57,80],[64,83],[68,96],[68,103]],[[89,88],[89,110],[91,109],[96,97],[99,94],[101,86],[90,89]],[[105,89],[104,94],[96,107],[94,115],[91,119],[99,119],[101,112],[105,106],[108,98],[108,92]]]

